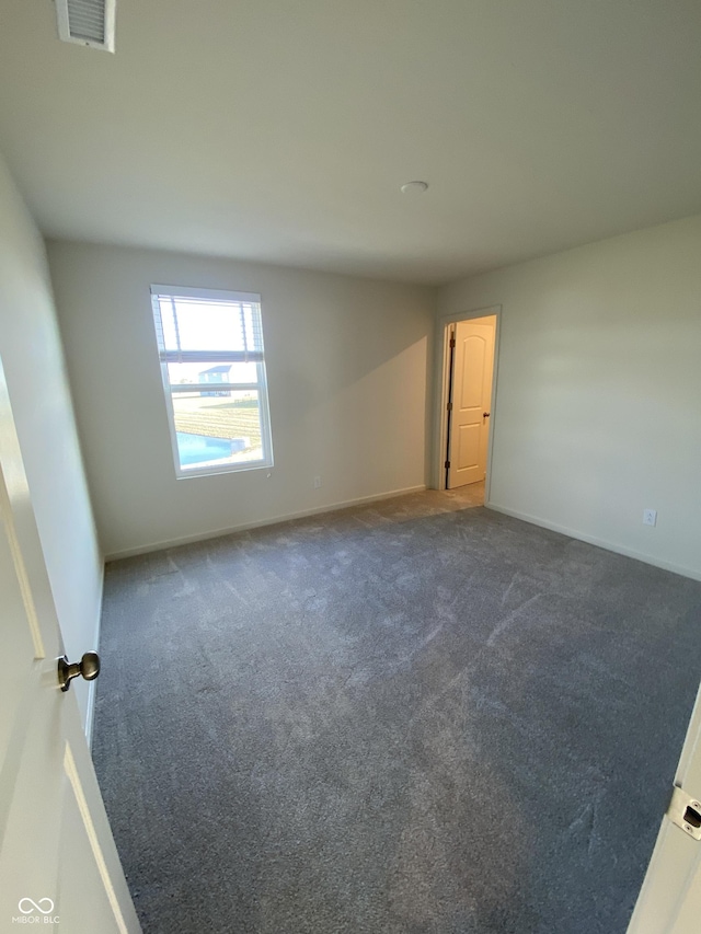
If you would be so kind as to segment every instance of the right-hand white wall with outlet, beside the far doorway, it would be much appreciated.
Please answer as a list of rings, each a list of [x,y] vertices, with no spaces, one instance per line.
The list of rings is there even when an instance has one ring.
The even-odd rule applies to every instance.
[[[439,320],[495,304],[490,505],[701,577],[701,217],[457,282]]]

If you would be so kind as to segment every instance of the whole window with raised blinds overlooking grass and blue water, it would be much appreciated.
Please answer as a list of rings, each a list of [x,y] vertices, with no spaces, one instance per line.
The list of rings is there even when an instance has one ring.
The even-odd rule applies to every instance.
[[[272,466],[261,296],[151,286],[177,476]]]

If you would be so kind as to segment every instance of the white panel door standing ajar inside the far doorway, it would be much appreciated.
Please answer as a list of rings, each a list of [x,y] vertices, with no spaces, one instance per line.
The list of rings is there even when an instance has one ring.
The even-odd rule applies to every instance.
[[[495,323],[491,315],[455,325],[448,489],[486,475]]]

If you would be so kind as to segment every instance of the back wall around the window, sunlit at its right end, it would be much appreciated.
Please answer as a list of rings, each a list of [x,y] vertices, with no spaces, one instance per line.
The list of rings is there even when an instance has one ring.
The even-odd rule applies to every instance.
[[[107,556],[425,483],[434,290],[62,241],[48,254]],[[175,477],[151,284],[261,293],[272,470]]]

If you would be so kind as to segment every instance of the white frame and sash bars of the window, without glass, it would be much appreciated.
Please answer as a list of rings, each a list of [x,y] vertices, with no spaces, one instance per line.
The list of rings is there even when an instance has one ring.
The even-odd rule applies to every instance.
[[[240,291],[230,291],[227,289],[207,289],[207,288],[193,288],[192,286],[165,286],[165,285],[151,285],[150,287],[150,297],[151,297],[151,311],[152,311],[152,320],[153,327],[156,330],[156,345],[158,350],[158,359],[161,368],[161,382],[163,385],[163,395],[165,397],[165,411],[168,414],[168,427],[171,435],[171,450],[173,454],[173,465],[175,468],[175,476],[177,480],[188,480],[189,477],[195,476],[211,476],[212,474],[223,474],[223,473],[240,473],[241,471],[249,470],[269,470],[273,466],[273,431],[271,426],[271,411],[269,411],[269,399],[268,399],[268,390],[267,390],[267,373],[265,367],[265,341],[263,336],[263,308],[262,300],[258,292],[240,292]],[[255,383],[188,383],[186,390],[175,390],[170,381],[170,373],[168,370],[168,366],[171,362],[228,362],[231,358],[231,362],[242,362],[240,359],[241,351],[238,350],[181,350],[173,351],[166,350],[164,343],[161,339],[161,335],[163,334],[163,322],[161,315],[161,307],[159,299],[160,298],[192,298],[192,299],[203,299],[205,301],[222,301],[222,302],[232,302],[232,303],[241,303],[245,302],[246,304],[255,304],[257,305],[257,313],[260,315],[260,331],[261,331],[261,350],[252,351],[252,355],[256,357],[255,360],[245,360],[246,362],[255,362],[256,366],[256,382]],[[232,313],[234,311],[232,310]],[[177,356],[177,360],[170,359],[170,356]],[[258,359],[260,357],[260,359]],[[212,392],[217,389],[225,390],[227,392],[237,392],[237,391],[255,391],[257,392],[258,397],[258,415],[261,423],[261,447],[263,450],[263,457],[256,460],[250,461],[239,461],[239,462],[228,462],[228,463],[212,463],[208,466],[198,466],[193,464],[189,468],[183,468],[181,465],[180,459],[180,448],[177,446],[177,429],[175,427],[175,410],[173,406],[173,396],[179,395],[181,392]]]

